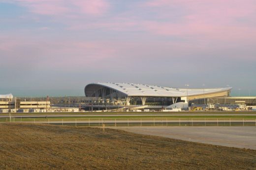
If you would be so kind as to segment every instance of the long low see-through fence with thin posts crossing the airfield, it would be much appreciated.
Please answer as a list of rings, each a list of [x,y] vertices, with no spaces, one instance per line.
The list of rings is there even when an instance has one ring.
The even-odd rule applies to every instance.
[[[73,126],[256,126],[253,118],[0,118],[3,122]]]

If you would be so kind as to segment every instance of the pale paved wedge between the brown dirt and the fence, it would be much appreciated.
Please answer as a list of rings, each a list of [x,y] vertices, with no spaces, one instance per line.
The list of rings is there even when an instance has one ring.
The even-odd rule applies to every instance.
[[[108,127],[109,128],[109,127]],[[190,142],[201,142],[256,150],[256,127],[111,127],[136,134],[160,136]]]

